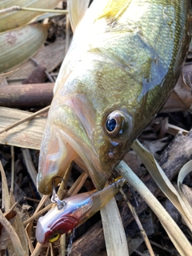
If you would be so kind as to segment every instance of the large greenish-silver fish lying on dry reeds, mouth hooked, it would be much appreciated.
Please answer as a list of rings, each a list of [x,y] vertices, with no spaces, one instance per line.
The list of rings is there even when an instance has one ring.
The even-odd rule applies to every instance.
[[[73,23],[42,138],[42,194],[72,162],[104,188],[178,81],[190,9],[189,0],[94,0]]]

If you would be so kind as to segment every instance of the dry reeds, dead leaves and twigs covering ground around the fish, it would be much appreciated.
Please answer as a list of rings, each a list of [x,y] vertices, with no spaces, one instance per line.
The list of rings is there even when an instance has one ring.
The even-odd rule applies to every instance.
[[[0,9],[8,7],[1,6],[1,2],[5,1],[0,1]],[[12,2],[14,6],[15,1]],[[39,2],[46,4],[51,1]],[[53,2],[53,6],[43,8],[54,8],[59,1]],[[65,9],[66,3],[64,2],[58,8]],[[22,13],[16,12],[16,14],[18,19],[23,17],[23,14],[26,15],[26,18],[30,17],[28,12],[24,11]],[[4,15],[4,23],[6,24],[7,18],[6,14]],[[37,244],[35,240],[34,231],[37,220],[52,206],[49,197],[38,194],[35,180],[38,170],[38,150],[46,124],[46,113],[49,108],[46,106],[50,105],[53,97],[54,81],[69,47],[72,32],[69,26],[69,18],[66,15],[49,18],[51,25],[49,25],[47,38],[47,25],[35,25],[35,27],[41,27],[40,34],[43,34],[43,37],[42,39],[39,38],[39,41],[35,39],[36,45],[32,52],[30,49],[34,42],[31,42],[31,39],[26,40],[26,38],[30,38],[26,32],[20,34],[22,30],[30,31],[28,28],[31,28],[32,25],[23,26],[30,19],[25,20],[25,22],[22,21],[21,24],[18,22],[16,27],[22,26],[22,28],[17,28],[15,32],[15,28],[3,26],[2,31],[4,32],[0,34],[0,49],[2,49],[1,45],[5,45],[5,40],[7,42],[6,54],[2,50],[0,53],[0,72],[4,72],[0,75],[0,254],[8,255],[8,251],[9,255],[22,256],[66,255],[69,234],[63,235],[58,242],[46,246]],[[47,23],[48,18],[43,20]],[[15,33],[18,33],[18,35],[15,35]],[[32,38],[34,38],[35,33],[38,32],[33,30]],[[10,51],[9,47],[14,44],[17,37],[20,41]],[[45,39],[44,46],[38,50]],[[23,53],[24,57],[19,59],[22,42],[27,44],[27,50]],[[37,53],[34,54],[35,52]],[[33,55],[33,58],[28,59],[31,55]],[[14,62],[12,62],[13,59]],[[28,60],[26,61],[26,59]],[[131,168],[127,174],[133,176],[128,177],[130,184],[124,186],[124,192],[122,190],[122,194],[119,193],[115,197],[118,208],[115,201],[110,202],[111,205],[107,205],[102,210],[102,220],[100,214],[96,214],[75,230],[70,255],[106,255],[102,222],[108,255],[112,255],[109,251],[112,251],[113,255],[118,255],[118,245],[114,242],[111,243],[107,236],[110,232],[118,234],[118,228],[112,222],[119,222],[119,225],[121,225],[121,221],[126,231],[126,239],[131,255],[190,255],[192,230],[192,184],[190,174],[192,170],[190,162],[192,155],[192,132],[190,131],[192,124],[190,109],[192,102],[191,59],[190,51],[186,59],[186,65],[183,67],[182,76],[179,78],[168,102],[163,106],[161,113],[138,138],[142,145],[154,155],[158,164],[142,146],[139,146],[138,142],[134,142],[133,150],[130,150],[124,158],[124,162]],[[23,63],[15,66],[18,62]],[[42,110],[42,107],[46,108]],[[38,112],[38,110],[40,111]],[[15,122],[21,120],[22,123],[12,126]],[[186,162],[187,165],[182,169]],[[160,166],[164,172],[162,172]],[[126,168],[128,166],[122,162],[116,169],[123,172]],[[182,171],[178,175],[181,169]],[[135,179],[133,178],[134,174],[137,174]],[[138,186],[137,182],[139,183]],[[161,204],[158,205],[157,200],[150,195],[142,182],[146,184],[155,198],[158,198],[158,201],[161,202],[178,226],[174,226],[174,222],[168,215],[164,218],[165,213],[162,211]],[[87,174],[74,165],[70,174],[68,174],[67,190],[60,189],[59,193],[60,196],[65,196],[63,191],[67,191],[67,196],[70,196],[71,194],[77,194],[78,191],[82,192],[93,188],[94,186],[87,178]],[[124,193],[126,194],[126,201],[123,200]],[[154,212],[150,210],[148,205]],[[115,209],[112,215],[109,211],[111,207]],[[107,230],[109,226],[112,226],[115,231]],[[181,233],[178,233],[180,232],[178,227],[182,230]],[[119,230],[121,232],[122,227]],[[169,234],[169,237],[167,234]],[[170,238],[173,238],[172,242],[173,240],[176,241],[174,246]],[[115,238],[114,235],[114,239],[118,238]],[[122,248],[126,248],[125,242]],[[126,253],[123,254],[123,256],[125,255]]]

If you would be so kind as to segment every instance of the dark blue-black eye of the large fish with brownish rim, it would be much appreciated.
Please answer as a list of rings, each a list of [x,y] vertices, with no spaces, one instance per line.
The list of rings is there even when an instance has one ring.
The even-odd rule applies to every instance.
[[[106,134],[111,138],[121,135],[127,128],[129,122],[124,111],[115,110],[106,118]]]

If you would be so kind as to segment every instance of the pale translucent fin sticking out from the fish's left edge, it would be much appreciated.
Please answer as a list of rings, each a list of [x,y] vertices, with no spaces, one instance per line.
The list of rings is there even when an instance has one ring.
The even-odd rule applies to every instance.
[[[89,6],[90,0],[69,0],[68,10],[70,16],[70,25],[74,32],[78,23],[82,20],[82,17],[86,13],[86,9]]]

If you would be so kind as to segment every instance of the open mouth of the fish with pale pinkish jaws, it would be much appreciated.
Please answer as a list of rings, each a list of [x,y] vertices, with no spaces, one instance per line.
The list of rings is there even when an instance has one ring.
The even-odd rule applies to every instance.
[[[49,114],[42,139],[37,178],[38,191],[42,194],[51,194],[52,178],[56,175],[63,177],[73,161],[88,172],[94,186],[102,190],[110,176],[110,171],[102,170],[99,155],[90,139],[90,131],[83,124],[86,112],[80,111],[84,113],[82,117],[79,109],[77,110],[77,104],[71,99],[53,112],[54,114]]]

